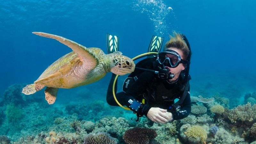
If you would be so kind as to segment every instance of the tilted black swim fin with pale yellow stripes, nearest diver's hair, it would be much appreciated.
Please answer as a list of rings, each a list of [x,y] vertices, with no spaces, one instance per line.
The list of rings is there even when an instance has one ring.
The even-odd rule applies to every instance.
[[[160,52],[163,45],[164,37],[152,36],[148,46],[148,52]]]

